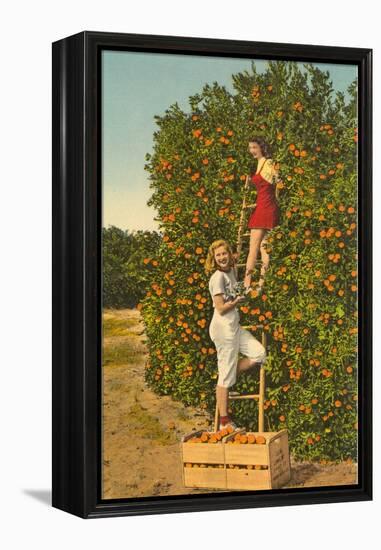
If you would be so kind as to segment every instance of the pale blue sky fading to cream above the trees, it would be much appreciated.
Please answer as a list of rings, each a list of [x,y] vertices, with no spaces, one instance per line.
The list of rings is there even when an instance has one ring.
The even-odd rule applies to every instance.
[[[255,64],[262,72],[267,62]],[[344,93],[357,77],[355,65],[315,65],[328,70],[334,89]],[[158,129],[154,116],[176,101],[189,112],[189,96],[206,83],[217,81],[233,92],[232,74],[245,69],[251,72],[250,59],[103,50],[103,227],[158,229],[155,210],[146,204],[152,190],[144,170]]]

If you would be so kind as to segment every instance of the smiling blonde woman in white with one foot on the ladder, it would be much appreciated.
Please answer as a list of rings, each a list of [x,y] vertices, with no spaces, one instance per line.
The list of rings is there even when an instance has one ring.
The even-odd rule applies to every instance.
[[[237,425],[228,415],[229,388],[235,384],[237,374],[250,369],[266,359],[264,346],[239,324],[237,306],[245,298],[235,296],[237,273],[230,244],[219,239],[208,250],[205,271],[212,273],[209,291],[213,301],[213,317],[209,325],[209,336],[217,350],[218,380],[216,387],[217,406],[220,413],[219,429]],[[246,357],[238,361],[238,353]]]

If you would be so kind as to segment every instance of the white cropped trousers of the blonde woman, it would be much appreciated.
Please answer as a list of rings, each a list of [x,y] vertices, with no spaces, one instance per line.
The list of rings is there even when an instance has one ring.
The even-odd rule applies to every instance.
[[[229,388],[237,381],[238,353],[253,360],[253,363],[264,363],[266,350],[247,329],[239,326],[235,333],[212,332],[212,341],[217,350],[218,386]]]

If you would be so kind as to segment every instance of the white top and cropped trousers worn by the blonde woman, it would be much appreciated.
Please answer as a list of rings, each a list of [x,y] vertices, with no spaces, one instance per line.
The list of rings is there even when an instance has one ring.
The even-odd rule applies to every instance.
[[[223,294],[228,301],[233,285],[237,282],[234,269],[217,269],[209,280],[209,291],[213,300],[213,317],[209,325],[209,336],[217,350],[218,386],[229,388],[237,381],[238,353],[246,355],[253,362],[263,363],[266,350],[254,336],[239,324],[239,311],[234,307],[224,314],[216,309],[213,296]]]

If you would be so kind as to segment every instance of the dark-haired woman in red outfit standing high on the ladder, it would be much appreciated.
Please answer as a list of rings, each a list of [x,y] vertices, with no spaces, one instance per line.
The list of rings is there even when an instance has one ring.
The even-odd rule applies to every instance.
[[[266,237],[271,229],[279,225],[280,211],[275,195],[274,181],[278,181],[279,174],[270,157],[267,143],[260,137],[249,142],[249,152],[258,159],[257,171],[251,174],[251,183],[257,189],[256,207],[250,215],[247,227],[250,229],[250,249],[246,260],[244,284],[246,292],[251,290],[251,274],[261,251],[262,268],[257,291],[261,291],[264,284],[264,274],[269,266],[270,257],[265,249]]]

